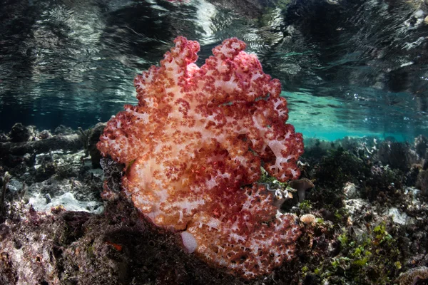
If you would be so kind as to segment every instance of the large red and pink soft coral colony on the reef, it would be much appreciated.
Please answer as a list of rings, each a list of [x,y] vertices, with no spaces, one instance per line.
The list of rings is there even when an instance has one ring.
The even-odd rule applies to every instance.
[[[123,189],[188,252],[253,278],[291,259],[300,229],[258,185],[260,166],[297,178],[302,135],[281,85],[237,38],[200,68],[197,41],[179,36],[161,66],[137,76],[138,105],[108,121],[98,148],[127,165]],[[252,186],[251,186],[252,185]]]

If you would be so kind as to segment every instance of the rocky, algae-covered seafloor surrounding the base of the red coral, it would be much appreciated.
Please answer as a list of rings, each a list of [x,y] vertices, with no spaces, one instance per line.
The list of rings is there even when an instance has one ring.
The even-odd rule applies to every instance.
[[[301,180],[260,181],[297,188],[282,204],[300,217],[295,259],[247,281],[140,217],[121,195],[121,166],[102,159],[101,170],[102,130],[0,134],[0,284],[428,284],[423,136],[306,139]],[[114,197],[101,199],[103,181]]]

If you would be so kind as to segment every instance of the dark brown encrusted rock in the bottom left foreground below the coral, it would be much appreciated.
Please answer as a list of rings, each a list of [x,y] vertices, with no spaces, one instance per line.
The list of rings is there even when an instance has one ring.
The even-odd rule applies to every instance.
[[[243,284],[186,254],[123,199],[102,215],[51,212],[30,209],[0,227],[2,284]]]

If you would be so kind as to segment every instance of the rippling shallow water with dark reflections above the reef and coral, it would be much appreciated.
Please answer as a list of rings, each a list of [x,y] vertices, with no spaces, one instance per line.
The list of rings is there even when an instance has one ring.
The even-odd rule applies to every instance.
[[[306,137],[428,135],[421,1],[2,2],[0,130],[108,120],[136,103],[134,76],[183,35],[200,42],[199,64],[223,39],[245,41]]]

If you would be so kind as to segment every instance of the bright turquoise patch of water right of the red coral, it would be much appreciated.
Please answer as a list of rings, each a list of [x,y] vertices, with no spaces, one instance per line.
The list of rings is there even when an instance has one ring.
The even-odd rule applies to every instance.
[[[405,108],[388,108],[382,103],[357,99],[317,97],[310,93],[282,92],[282,95],[287,98],[290,108],[288,122],[305,138],[338,140],[371,136],[412,141],[417,135],[427,134],[424,116],[408,113]],[[377,111],[368,111],[367,105],[372,105]],[[418,121],[419,124],[415,123]]]

